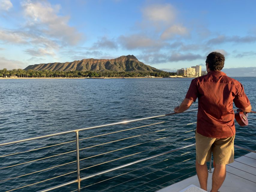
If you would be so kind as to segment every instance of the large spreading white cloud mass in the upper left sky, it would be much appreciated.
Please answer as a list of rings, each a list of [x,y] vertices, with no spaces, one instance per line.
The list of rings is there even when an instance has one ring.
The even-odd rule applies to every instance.
[[[74,46],[82,35],[68,25],[68,16],[59,16],[59,5],[47,1],[22,1],[25,24],[18,29],[0,29],[0,41],[29,46],[32,56],[55,56],[63,46]]]

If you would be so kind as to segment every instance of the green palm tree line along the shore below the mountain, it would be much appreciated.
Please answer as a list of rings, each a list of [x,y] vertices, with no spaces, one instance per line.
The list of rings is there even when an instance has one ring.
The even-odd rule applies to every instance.
[[[12,69],[7,70],[4,68],[0,70],[0,77],[143,77],[143,76],[155,76],[155,77],[168,77],[176,75],[176,72],[143,72],[143,71],[51,71],[51,70],[23,70]]]

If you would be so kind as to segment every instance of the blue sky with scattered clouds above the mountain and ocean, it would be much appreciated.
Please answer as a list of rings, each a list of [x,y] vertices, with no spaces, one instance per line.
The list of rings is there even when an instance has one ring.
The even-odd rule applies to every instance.
[[[165,71],[205,69],[218,51],[225,69],[256,76],[255,7],[251,0],[0,0],[0,69],[121,55]]]

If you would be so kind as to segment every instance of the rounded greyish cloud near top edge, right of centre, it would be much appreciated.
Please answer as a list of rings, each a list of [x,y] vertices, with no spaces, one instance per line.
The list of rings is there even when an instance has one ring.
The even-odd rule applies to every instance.
[[[142,10],[143,17],[157,24],[170,24],[176,17],[176,10],[170,4],[152,4]]]

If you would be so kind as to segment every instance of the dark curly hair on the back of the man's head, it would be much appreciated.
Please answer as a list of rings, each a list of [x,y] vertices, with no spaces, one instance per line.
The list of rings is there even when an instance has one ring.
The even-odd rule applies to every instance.
[[[211,52],[206,57],[206,63],[211,71],[220,71],[224,67],[225,57],[219,52]]]

